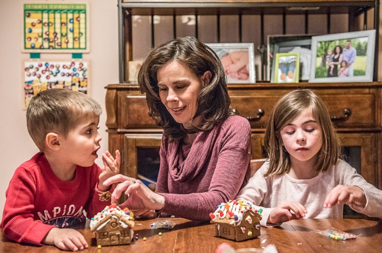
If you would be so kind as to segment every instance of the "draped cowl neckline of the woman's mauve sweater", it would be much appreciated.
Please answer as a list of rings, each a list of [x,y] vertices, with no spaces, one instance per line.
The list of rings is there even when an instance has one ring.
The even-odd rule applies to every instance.
[[[183,140],[169,143],[169,170],[174,181],[189,181],[201,172],[210,160],[220,125],[209,131],[198,132],[192,144],[185,144]]]

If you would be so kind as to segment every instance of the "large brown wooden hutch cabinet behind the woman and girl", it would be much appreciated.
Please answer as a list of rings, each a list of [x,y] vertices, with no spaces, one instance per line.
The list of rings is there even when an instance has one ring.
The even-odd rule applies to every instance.
[[[232,33],[238,34],[238,39],[231,42],[245,41],[244,33],[253,33],[252,26],[243,26],[244,15],[260,17],[260,27],[255,30],[260,34],[257,44],[266,44],[267,31],[274,23],[272,18],[265,15],[282,17],[282,33],[288,31],[286,22],[289,16],[303,16],[305,20],[304,33],[309,34],[315,17],[326,17],[325,33],[333,32],[333,23],[336,15],[345,15],[347,18],[346,31],[366,29],[371,26],[378,31],[379,1],[266,1],[266,0],[203,0],[203,1],[119,1],[119,41],[120,41],[120,84],[106,86],[106,113],[109,135],[109,149],[120,149],[122,154],[121,172],[136,177],[139,172],[139,160],[142,150],[158,151],[162,131],[149,115],[145,95],[141,94],[135,83],[128,82],[128,64],[133,60],[134,34],[133,20],[137,16],[147,16],[151,20],[151,28],[140,31],[137,36],[148,34],[151,46],[156,46],[156,39],[166,34],[156,33],[155,17],[173,17],[169,33],[174,37],[179,34],[177,23],[181,15],[194,15],[195,30],[190,36],[202,33],[203,27],[198,24],[202,17],[215,17],[216,34],[211,36],[220,40],[225,33],[221,28],[223,15],[235,16],[237,27],[230,27]],[[224,16],[226,18],[227,16]],[[370,21],[371,20],[371,21]],[[205,28],[205,27],[204,27]],[[209,27],[210,28],[210,27]],[[230,31],[231,32],[231,31]],[[205,34],[205,33],[204,33]],[[183,34],[182,34],[183,35]],[[369,83],[307,83],[275,84],[264,81],[264,75],[255,84],[229,84],[229,94],[232,109],[238,114],[247,117],[252,128],[252,157],[264,157],[264,130],[269,119],[269,113],[276,101],[285,93],[296,88],[311,88],[328,105],[332,120],[344,146],[346,160],[356,168],[367,181],[378,188],[382,188],[382,83],[378,82],[378,35],[376,36],[376,57],[374,60],[374,82]],[[210,43],[211,41],[203,41]],[[140,45],[138,45],[140,46]],[[255,43],[256,46],[256,43]],[[147,51],[149,48],[147,48]],[[373,60],[373,59],[368,59]],[[261,62],[265,65],[264,62]],[[264,66],[259,66],[262,72]],[[258,78],[258,79],[259,79]],[[145,155],[144,155],[145,156]]]

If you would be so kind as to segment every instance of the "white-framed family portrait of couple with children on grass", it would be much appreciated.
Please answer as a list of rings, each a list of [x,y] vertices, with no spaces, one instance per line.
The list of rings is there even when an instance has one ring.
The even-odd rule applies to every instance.
[[[309,82],[373,81],[375,30],[312,37]]]

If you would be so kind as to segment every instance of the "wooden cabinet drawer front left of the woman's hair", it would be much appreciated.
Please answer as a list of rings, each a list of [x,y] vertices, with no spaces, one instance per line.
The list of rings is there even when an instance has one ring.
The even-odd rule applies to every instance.
[[[157,128],[149,115],[146,96],[127,95],[122,104],[123,128]]]

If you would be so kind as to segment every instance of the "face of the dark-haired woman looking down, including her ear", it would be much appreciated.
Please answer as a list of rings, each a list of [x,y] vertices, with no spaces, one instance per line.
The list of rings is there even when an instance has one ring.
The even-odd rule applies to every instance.
[[[176,122],[190,128],[197,110],[197,98],[202,87],[209,83],[211,72],[197,77],[187,65],[173,60],[157,71],[156,78],[160,101]]]

